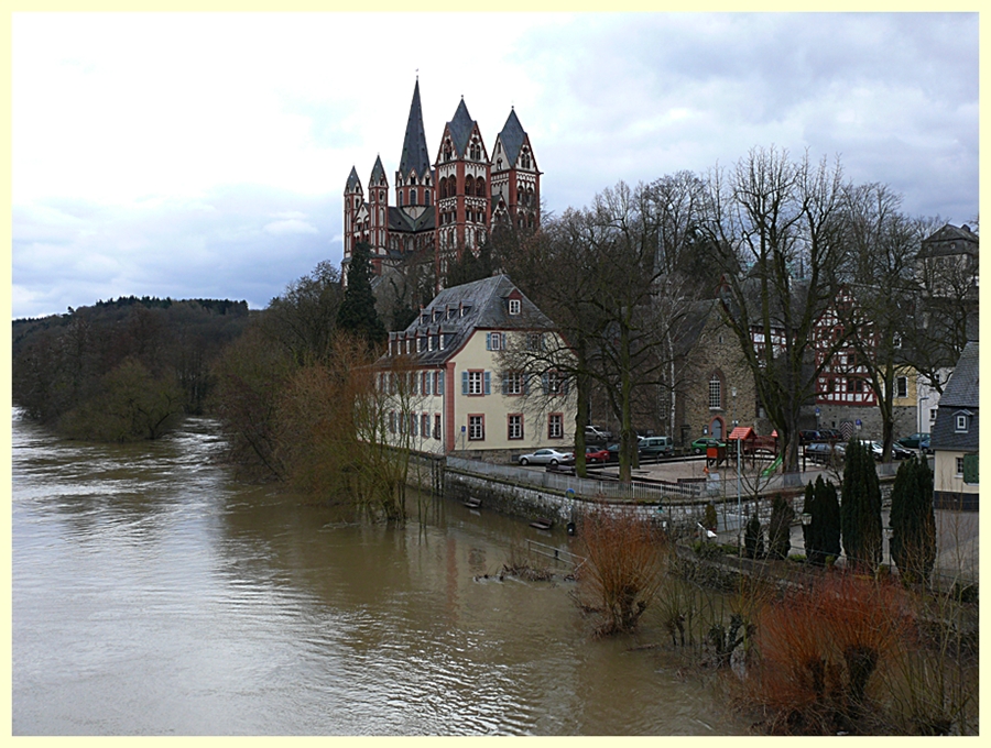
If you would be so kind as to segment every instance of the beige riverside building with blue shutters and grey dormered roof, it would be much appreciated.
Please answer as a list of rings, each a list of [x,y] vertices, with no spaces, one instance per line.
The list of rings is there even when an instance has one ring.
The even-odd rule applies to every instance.
[[[526,350],[534,355],[524,366],[515,352]],[[573,450],[575,392],[543,351],[569,355],[508,276],[445,288],[410,327],[390,333],[379,361],[386,438],[507,461],[543,447]]]

